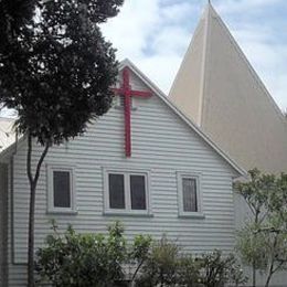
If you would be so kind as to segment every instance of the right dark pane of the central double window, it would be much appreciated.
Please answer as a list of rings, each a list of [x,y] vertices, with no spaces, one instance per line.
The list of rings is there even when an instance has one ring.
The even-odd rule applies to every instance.
[[[132,210],[146,210],[146,179],[144,176],[130,176],[130,200]]]

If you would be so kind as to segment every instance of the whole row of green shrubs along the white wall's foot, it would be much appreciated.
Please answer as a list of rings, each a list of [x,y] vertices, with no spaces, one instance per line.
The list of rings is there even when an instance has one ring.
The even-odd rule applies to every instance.
[[[232,254],[214,251],[194,257],[166,236],[152,241],[137,235],[128,245],[119,223],[106,236],[77,234],[72,227],[61,236],[54,228],[46,247],[38,252],[36,266],[41,278],[56,287],[107,287],[124,279],[140,287],[222,287],[246,281]],[[124,266],[132,267],[134,274],[128,276]]]

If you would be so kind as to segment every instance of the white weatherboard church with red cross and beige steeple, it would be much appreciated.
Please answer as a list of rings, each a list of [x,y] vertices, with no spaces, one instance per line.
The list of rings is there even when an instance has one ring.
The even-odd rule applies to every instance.
[[[35,248],[72,224],[128,238],[167,234],[184,252],[232,252],[241,203],[233,181],[257,167],[287,170],[287,124],[223,21],[208,4],[170,97],[129,60],[113,107],[74,140],[52,147],[39,179]],[[262,129],[264,127],[264,130]],[[0,286],[26,279],[26,138],[0,119]],[[34,162],[42,147],[33,142]],[[286,275],[273,287],[286,286]]]

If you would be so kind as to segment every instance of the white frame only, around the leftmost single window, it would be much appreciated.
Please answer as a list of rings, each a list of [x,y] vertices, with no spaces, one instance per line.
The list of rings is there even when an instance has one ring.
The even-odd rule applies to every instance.
[[[76,213],[76,184],[75,184],[75,167],[63,164],[47,164],[46,166],[47,178],[47,213]],[[54,206],[54,171],[67,171],[70,172],[70,187],[71,187],[71,206],[70,208],[56,208]]]

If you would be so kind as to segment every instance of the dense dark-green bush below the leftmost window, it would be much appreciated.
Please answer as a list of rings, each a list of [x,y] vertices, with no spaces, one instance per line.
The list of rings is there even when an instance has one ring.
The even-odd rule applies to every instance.
[[[56,227],[36,253],[41,279],[61,287],[108,287],[124,278],[126,241],[119,223],[102,234],[76,234],[70,226],[63,236]]]

